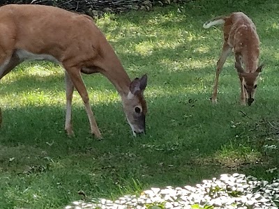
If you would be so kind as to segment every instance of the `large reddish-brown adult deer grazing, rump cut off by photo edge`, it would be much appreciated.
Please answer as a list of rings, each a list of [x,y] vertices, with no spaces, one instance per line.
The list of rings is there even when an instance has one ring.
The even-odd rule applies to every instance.
[[[107,77],[121,96],[133,134],[145,132],[147,76],[131,82],[91,17],[52,6],[10,4],[0,7],[0,31],[0,79],[24,60],[53,61],[65,69],[68,135],[73,135],[72,98],[76,88],[84,102],[91,133],[101,137],[81,72],[100,72]]]

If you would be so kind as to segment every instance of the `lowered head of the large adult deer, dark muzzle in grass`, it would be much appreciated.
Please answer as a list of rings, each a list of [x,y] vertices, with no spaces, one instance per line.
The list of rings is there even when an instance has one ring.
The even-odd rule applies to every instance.
[[[147,85],[147,75],[140,79],[135,78],[130,83],[130,91],[126,98],[123,98],[123,108],[126,118],[136,134],[145,134],[145,115],[147,112],[146,101],[144,100],[144,89]]]

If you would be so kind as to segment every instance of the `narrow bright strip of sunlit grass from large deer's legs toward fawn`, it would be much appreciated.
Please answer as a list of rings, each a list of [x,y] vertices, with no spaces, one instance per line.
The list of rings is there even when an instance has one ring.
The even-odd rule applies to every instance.
[[[209,79],[209,78],[206,78]],[[168,97],[172,95],[181,95],[186,93],[204,93],[208,88],[201,80],[197,81],[197,84],[190,84],[183,86],[149,86],[146,89],[146,100],[158,97]],[[89,98],[92,105],[98,104],[110,104],[120,102],[121,98],[116,91],[110,91],[104,89],[103,91],[92,91],[89,89]],[[65,91],[43,91],[37,88],[33,91],[21,91],[15,93],[7,93],[1,98],[1,107],[3,109],[13,109],[17,107],[45,107],[45,106],[64,106],[66,104]],[[83,106],[82,98],[75,91],[73,94],[73,105]]]

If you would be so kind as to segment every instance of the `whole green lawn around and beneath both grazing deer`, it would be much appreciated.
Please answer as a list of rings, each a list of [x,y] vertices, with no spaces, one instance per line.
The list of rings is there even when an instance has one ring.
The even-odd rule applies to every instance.
[[[223,34],[202,24],[238,10],[257,26],[266,67],[255,104],[242,107],[230,56],[212,105]],[[76,92],[75,137],[66,137],[63,70],[52,63],[18,66],[0,85],[0,208],[63,208],[82,198],[80,190],[89,199],[116,199],[220,173],[278,178],[278,150],[264,147],[279,146],[278,15],[276,0],[200,0],[98,20],[128,75],[149,76],[143,137],[133,137],[119,95],[101,75],[84,75],[84,82],[104,140],[89,134]]]

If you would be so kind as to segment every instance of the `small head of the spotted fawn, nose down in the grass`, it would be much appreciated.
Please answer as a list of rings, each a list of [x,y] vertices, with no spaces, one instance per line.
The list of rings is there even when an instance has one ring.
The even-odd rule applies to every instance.
[[[252,102],[255,100],[255,93],[257,88],[257,77],[259,76],[259,72],[262,72],[264,65],[259,65],[255,72],[246,72],[240,63],[235,63],[235,67],[237,72],[239,73],[239,78],[241,78],[243,87],[246,95],[246,102],[250,106]]]

